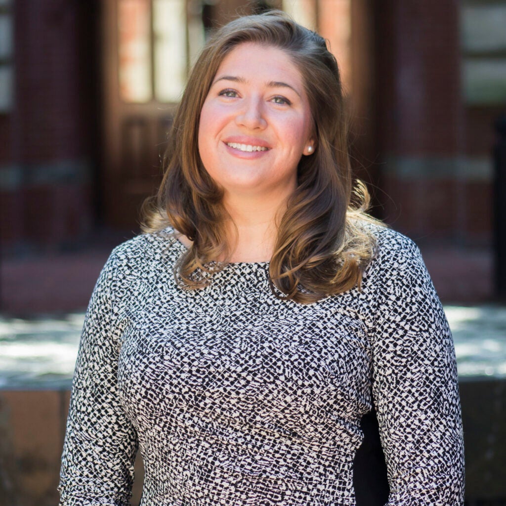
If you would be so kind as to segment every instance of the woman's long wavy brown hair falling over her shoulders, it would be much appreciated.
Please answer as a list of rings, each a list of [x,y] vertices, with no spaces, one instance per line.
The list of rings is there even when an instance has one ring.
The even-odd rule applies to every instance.
[[[176,278],[187,288],[207,285],[226,265],[216,260],[230,255],[225,235],[230,217],[222,190],[202,164],[197,139],[200,111],[213,78],[225,56],[245,42],[282,49],[305,83],[316,149],[299,162],[298,186],[278,224],[269,276],[277,297],[315,302],[360,283],[373,255],[374,237],[363,226],[372,220],[364,213],[368,194],[361,183],[351,206],[348,118],[338,64],[320,35],[283,12],[238,18],[206,44],[174,118],[158,194],[143,207],[143,230],[170,224],[193,241],[175,266]]]

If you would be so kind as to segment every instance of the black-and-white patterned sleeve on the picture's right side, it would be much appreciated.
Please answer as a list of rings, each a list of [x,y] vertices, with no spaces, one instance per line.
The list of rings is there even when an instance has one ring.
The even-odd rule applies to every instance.
[[[372,341],[372,392],[387,506],[461,506],[463,438],[455,351],[418,248],[386,252]]]

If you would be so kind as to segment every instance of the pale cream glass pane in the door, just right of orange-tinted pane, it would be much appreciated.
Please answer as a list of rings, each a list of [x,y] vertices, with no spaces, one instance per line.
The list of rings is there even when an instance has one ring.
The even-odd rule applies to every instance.
[[[186,0],[153,0],[155,97],[177,102],[186,82]]]

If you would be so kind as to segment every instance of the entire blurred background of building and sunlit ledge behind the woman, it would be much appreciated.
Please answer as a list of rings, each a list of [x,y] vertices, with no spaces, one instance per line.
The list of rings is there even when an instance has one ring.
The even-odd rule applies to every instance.
[[[205,38],[269,8],[338,59],[355,176],[420,246],[453,331],[467,504],[506,505],[504,0],[0,0],[0,505],[57,503],[99,271],[139,232]]]

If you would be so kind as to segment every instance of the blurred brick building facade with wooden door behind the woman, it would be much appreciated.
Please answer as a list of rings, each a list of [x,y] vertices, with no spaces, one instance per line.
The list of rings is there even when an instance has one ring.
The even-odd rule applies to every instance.
[[[424,242],[491,247],[497,0],[0,0],[4,253],[138,230],[188,68],[214,27],[282,8],[329,41],[372,213]],[[502,24],[501,24],[502,23]]]

